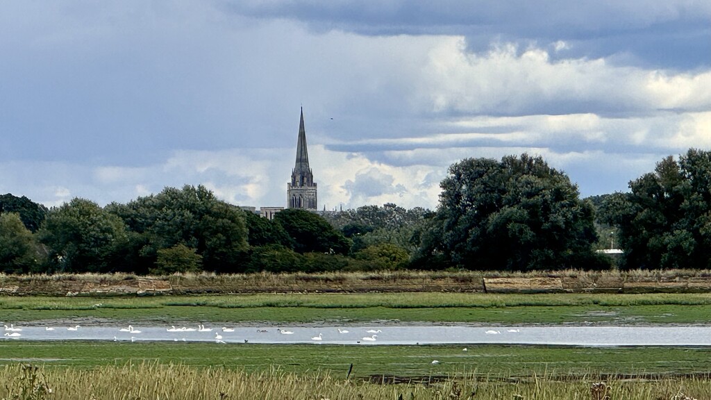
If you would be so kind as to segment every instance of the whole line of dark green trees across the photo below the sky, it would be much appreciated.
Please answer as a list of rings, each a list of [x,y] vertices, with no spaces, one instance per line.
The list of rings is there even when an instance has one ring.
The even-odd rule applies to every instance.
[[[273,221],[204,186],[103,207],[76,198],[47,209],[5,194],[0,272],[711,267],[711,152],[667,157],[629,192],[589,199],[528,154],[461,160],[440,186],[434,211],[286,209]],[[607,241],[624,250],[619,263],[595,251]]]

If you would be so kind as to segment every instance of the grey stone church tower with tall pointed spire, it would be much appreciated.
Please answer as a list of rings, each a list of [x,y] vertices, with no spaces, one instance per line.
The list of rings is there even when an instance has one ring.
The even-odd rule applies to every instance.
[[[296,164],[292,171],[292,181],[287,184],[287,209],[316,210],[316,183],[309,168],[303,107],[299,121],[299,140],[296,142]]]

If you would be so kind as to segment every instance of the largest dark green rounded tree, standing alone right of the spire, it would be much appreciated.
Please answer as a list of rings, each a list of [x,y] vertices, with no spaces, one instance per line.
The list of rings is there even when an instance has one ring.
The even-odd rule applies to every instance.
[[[586,268],[594,260],[592,204],[541,157],[464,159],[441,186],[422,238],[425,260],[477,270]]]

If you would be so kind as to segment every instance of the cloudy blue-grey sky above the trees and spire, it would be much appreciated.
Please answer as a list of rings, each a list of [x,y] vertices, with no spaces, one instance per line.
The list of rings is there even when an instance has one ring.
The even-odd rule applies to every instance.
[[[711,1],[0,0],[1,194],[286,206],[301,107],[319,209],[522,153],[626,191],[711,149]]]

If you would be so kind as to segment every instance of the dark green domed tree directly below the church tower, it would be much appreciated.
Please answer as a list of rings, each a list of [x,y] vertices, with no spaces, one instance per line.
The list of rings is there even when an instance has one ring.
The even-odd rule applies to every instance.
[[[297,253],[346,254],[351,248],[351,241],[324,218],[310,211],[286,209],[277,213],[274,221],[292,238]]]

